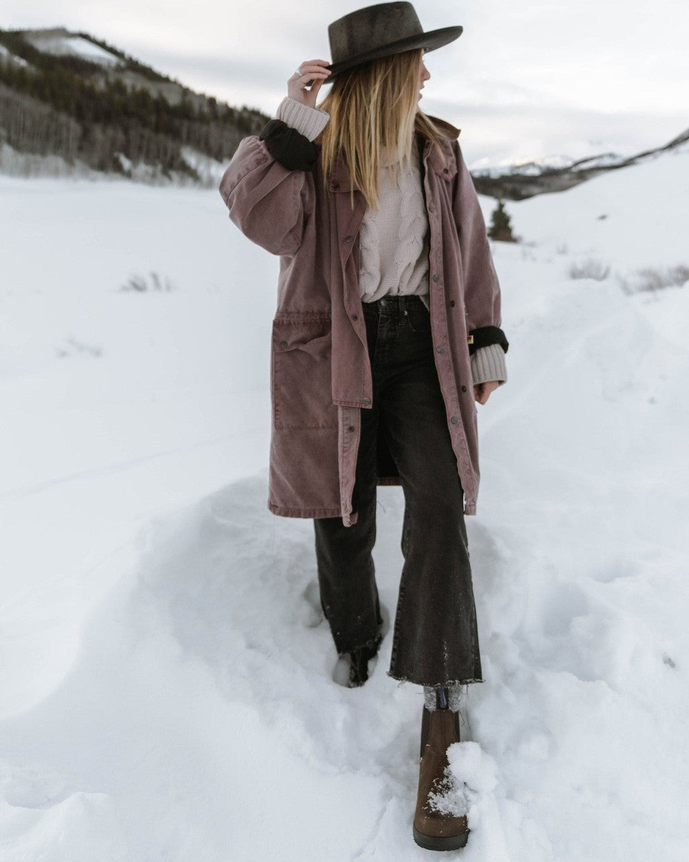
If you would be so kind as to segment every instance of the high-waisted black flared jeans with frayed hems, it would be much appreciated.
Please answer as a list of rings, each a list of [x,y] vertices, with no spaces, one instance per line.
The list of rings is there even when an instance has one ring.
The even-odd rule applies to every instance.
[[[380,626],[376,541],[379,424],[405,497],[404,566],[389,675],[422,685],[481,682],[462,484],[438,383],[431,317],[419,297],[363,303],[373,406],[361,410],[352,504],[357,523],[313,521],[320,598],[338,653],[373,644]]]

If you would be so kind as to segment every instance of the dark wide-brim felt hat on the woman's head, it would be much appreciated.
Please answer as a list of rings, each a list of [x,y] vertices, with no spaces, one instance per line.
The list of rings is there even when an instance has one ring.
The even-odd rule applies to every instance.
[[[462,35],[462,27],[444,27],[424,33],[411,3],[376,3],[350,12],[328,27],[332,74],[329,84],[341,72],[371,60],[389,57],[415,48],[434,51]]]

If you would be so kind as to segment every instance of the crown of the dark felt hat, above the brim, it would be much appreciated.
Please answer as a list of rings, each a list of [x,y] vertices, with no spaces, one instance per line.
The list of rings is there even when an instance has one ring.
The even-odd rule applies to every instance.
[[[357,9],[328,27],[332,64],[423,32],[411,3],[377,3]]]

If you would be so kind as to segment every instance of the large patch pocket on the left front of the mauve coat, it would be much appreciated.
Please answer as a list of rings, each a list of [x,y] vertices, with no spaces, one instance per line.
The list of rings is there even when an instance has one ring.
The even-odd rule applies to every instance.
[[[272,353],[275,428],[338,428],[338,408],[332,403],[330,318],[276,318]]]

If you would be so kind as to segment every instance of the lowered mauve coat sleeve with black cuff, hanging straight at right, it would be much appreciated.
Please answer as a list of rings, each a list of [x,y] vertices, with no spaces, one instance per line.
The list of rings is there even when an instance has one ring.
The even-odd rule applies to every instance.
[[[464,305],[469,353],[499,344],[507,352],[508,341],[500,328],[500,283],[488,245],[486,222],[462,150],[455,142],[457,175],[453,212],[462,253]]]

